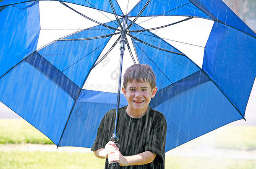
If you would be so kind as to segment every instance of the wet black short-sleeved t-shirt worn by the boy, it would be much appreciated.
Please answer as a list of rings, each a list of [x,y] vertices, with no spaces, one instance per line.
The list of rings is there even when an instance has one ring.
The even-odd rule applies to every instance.
[[[145,151],[157,154],[153,162],[139,166],[120,166],[120,169],[164,169],[165,139],[167,123],[165,116],[148,107],[141,118],[135,119],[126,113],[126,107],[118,111],[117,133],[119,134],[120,152],[123,156],[136,155]],[[104,148],[115,130],[115,109],[108,111],[97,132],[97,137],[91,148],[95,151]],[[105,169],[108,160],[106,159]]]

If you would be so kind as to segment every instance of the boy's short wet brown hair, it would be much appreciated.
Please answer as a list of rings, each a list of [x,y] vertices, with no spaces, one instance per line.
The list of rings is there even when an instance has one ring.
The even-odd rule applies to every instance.
[[[131,83],[133,80],[149,83],[151,89],[156,86],[156,76],[152,68],[148,65],[134,64],[130,66],[123,75],[123,87],[126,89],[127,83]]]

